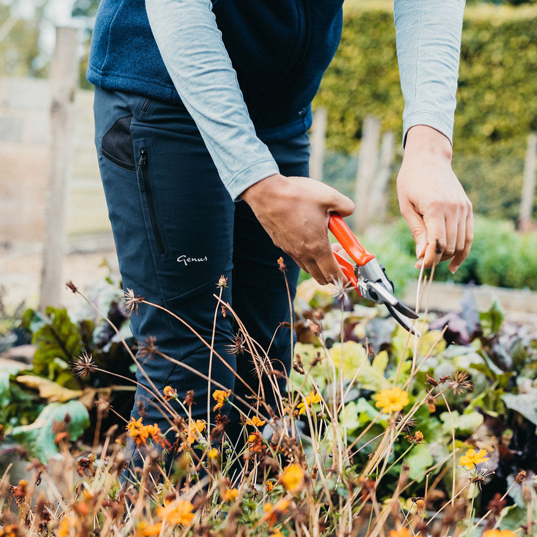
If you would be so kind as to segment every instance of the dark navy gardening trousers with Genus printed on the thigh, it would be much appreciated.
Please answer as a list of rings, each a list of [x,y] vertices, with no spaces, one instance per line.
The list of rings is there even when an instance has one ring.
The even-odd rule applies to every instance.
[[[248,349],[237,349],[237,322],[214,295],[221,292],[250,337],[269,349],[273,367],[288,372],[292,337],[288,325],[281,325],[290,321],[285,278],[292,301],[299,268],[273,244],[250,207],[231,199],[183,106],[96,87],[95,125],[124,289],[156,304],[137,303],[130,316],[141,365],[132,417],[168,431],[169,412],[154,391],[162,395],[170,386],[177,390],[178,401],[169,403],[180,416],[186,417],[189,405],[180,403],[193,390],[191,417],[206,420],[208,381],[198,373],[208,377],[210,362],[210,377],[219,383],[211,385],[211,394],[231,389],[255,404],[234,374],[258,393],[251,355]],[[308,176],[307,134],[268,145],[281,173]],[[287,267],[285,276],[280,257]],[[225,287],[217,285],[222,276],[227,278]],[[155,338],[153,343],[150,338]],[[285,379],[278,382],[285,391]],[[273,406],[273,390],[263,384],[266,402]],[[248,413],[247,407],[241,408]],[[240,412],[229,402],[219,410],[228,416],[226,432],[235,442]],[[168,439],[175,441],[175,434]]]

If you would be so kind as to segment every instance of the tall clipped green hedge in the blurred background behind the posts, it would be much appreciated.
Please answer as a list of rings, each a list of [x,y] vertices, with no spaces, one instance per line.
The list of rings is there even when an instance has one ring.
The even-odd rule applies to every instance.
[[[327,147],[339,153],[357,151],[367,114],[397,136],[402,131],[393,12],[383,2],[373,5],[347,9],[341,45],[315,100],[328,110]],[[518,216],[527,135],[537,130],[536,95],[535,6],[469,6],[453,166],[480,213]]]

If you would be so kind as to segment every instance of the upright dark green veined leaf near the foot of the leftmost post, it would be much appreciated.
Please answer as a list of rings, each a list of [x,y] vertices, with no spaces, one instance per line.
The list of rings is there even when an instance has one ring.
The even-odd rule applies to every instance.
[[[68,362],[81,352],[81,335],[66,309],[48,307],[46,313],[49,322],[33,337],[33,343],[37,346],[34,371],[56,381],[60,373],[69,371]],[[63,361],[56,361],[57,358]],[[72,373],[69,374],[69,380],[74,381]]]

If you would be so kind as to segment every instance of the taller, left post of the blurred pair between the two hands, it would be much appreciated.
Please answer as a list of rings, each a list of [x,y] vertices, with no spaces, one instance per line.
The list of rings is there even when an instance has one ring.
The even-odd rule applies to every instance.
[[[359,234],[364,233],[369,219],[370,196],[373,180],[379,163],[380,121],[368,115],[364,119],[362,143],[358,157],[358,173],[354,191],[354,228]]]

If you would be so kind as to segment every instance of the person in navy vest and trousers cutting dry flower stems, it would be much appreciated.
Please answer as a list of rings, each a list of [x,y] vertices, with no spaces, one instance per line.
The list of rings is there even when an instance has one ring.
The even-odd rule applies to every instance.
[[[274,367],[288,371],[291,314],[277,260],[291,300],[300,268],[321,284],[343,278],[327,226],[330,213],[350,215],[353,202],[308,177],[307,135],[311,100],[338,46],[342,3],[100,3],[87,77],[122,280],[184,321],[144,303],[131,317],[142,364],[132,416],[143,423],[168,429],[148,395],[153,387],[176,389],[180,402],[193,390],[193,419],[207,419],[214,389],[233,390],[236,401],[248,401],[250,388],[257,393],[237,321],[215,293]],[[453,272],[473,238],[471,204],[451,168],[463,9],[462,0],[394,4],[405,98],[398,201],[417,266],[449,259]],[[275,404],[270,388],[265,400]],[[230,401],[219,411],[236,439],[240,411]]]

